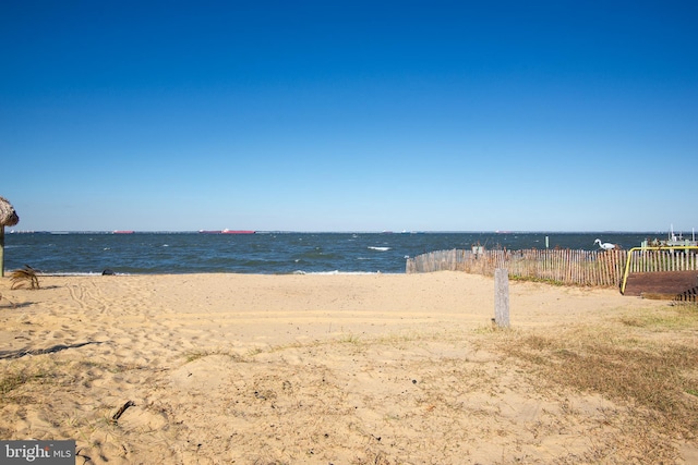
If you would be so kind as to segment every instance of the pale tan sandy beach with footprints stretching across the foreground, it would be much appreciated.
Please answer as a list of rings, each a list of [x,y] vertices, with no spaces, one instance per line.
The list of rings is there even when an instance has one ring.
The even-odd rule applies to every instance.
[[[512,281],[502,330],[461,272],[10,284],[0,439],[79,464],[698,463],[695,307]]]

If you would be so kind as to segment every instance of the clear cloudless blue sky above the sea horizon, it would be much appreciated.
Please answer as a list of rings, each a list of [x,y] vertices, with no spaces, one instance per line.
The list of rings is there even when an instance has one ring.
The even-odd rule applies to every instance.
[[[690,231],[695,1],[0,2],[20,230]]]

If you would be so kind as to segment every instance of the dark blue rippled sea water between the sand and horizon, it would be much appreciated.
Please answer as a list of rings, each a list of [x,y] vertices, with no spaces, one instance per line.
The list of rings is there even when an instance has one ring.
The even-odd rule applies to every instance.
[[[44,273],[404,273],[406,259],[452,248],[624,248],[665,233],[5,233],[5,270]]]

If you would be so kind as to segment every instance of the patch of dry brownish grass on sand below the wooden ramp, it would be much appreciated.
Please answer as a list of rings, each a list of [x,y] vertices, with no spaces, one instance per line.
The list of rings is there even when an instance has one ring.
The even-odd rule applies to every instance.
[[[617,323],[575,323],[544,333],[514,331],[500,346],[541,384],[595,393],[631,418],[641,463],[675,460],[672,442],[698,431],[698,313],[663,306],[636,309]],[[518,360],[518,362],[514,362]],[[648,433],[654,431],[654,433]]]

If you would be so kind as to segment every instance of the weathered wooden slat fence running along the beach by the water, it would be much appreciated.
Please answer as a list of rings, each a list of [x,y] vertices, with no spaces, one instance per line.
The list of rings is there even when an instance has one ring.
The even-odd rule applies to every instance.
[[[640,253],[641,252],[641,253]],[[695,253],[677,250],[633,250],[630,271],[698,270]],[[540,279],[563,284],[618,286],[625,271],[626,250],[437,250],[408,258],[406,272],[441,270],[494,276],[506,268],[509,277]]]

